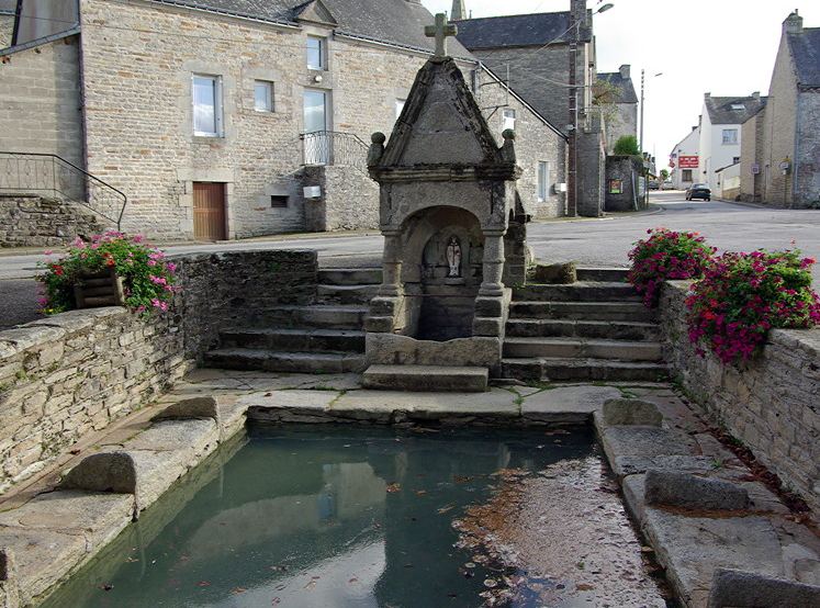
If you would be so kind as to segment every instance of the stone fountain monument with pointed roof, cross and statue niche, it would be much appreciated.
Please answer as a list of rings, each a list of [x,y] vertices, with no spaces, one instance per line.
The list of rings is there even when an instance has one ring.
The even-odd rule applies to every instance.
[[[364,323],[371,389],[483,391],[501,373],[509,285],[526,271],[515,133],[499,147],[436,15],[436,55],[419,70],[385,144],[368,155],[380,184],[383,282]]]

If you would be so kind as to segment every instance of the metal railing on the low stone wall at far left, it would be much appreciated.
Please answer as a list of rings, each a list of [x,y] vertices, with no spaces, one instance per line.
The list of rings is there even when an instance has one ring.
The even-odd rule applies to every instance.
[[[117,230],[128,202],[113,185],[53,154],[0,151],[0,192],[50,193],[113,222]]]

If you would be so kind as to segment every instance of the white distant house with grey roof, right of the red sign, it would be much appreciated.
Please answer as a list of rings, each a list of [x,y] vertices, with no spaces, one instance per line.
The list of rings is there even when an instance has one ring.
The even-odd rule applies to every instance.
[[[749,97],[711,97],[704,94],[698,143],[697,183],[706,183],[718,191],[717,170],[740,162],[741,124],[766,103],[759,92]]]

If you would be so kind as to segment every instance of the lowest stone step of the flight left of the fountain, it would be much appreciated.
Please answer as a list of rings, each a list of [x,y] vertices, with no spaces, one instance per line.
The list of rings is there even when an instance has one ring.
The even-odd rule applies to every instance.
[[[295,352],[262,348],[218,348],[205,353],[209,368],[291,373],[355,373],[364,369],[364,353]]]

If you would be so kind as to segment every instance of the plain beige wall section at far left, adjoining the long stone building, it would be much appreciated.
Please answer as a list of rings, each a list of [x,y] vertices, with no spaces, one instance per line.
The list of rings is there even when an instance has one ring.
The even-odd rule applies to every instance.
[[[82,167],[79,37],[4,55],[0,150],[55,154]]]

